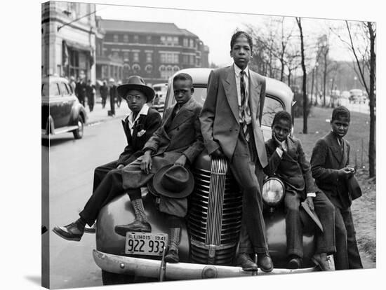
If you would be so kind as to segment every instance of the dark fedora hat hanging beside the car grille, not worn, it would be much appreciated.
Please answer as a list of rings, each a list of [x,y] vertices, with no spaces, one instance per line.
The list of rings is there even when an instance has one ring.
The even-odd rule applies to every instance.
[[[180,165],[162,167],[149,183],[149,191],[154,195],[168,198],[186,198],[194,188],[193,174]]]

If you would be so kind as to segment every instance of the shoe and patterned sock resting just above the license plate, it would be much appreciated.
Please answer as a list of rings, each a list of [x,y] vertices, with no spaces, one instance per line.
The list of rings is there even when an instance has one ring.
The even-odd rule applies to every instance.
[[[133,221],[133,223],[129,223],[128,225],[115,226],[115,233],[118,235],[123,235],[124,237],[126,237],[127,232],[150,233],[152,231],[152,226],[150,226],[149,222],[147,221],[142,198],[136,198],[135,200],[132,200],[131,204],[134,208],[135,221]]]

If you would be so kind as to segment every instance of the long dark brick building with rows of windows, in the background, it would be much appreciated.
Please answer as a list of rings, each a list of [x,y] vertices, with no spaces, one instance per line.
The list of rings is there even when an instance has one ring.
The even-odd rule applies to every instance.
[[[176,71],[191,67],[208,67],[208,46],[187,29],[173,23],[102,20],[97,79],[114,78],[126,83],[138,74],[150,85],[166,83]],[[114,60],[115,67],[107,64]],[[121,64],[121,68],[119,68]]]

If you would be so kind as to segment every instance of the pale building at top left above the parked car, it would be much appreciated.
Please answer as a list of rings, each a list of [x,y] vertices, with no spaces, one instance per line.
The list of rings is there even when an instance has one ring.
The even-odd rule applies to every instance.
[[[95,83],[95,4],[41,4],[41,74],[91,79]]]

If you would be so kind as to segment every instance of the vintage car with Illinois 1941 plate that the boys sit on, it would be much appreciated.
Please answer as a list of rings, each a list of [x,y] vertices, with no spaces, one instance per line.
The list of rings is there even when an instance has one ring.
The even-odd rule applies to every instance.
[[[211,69],[183,69],[179,72],[190,74],[194,82],[193,97],[204,103],[206,87]],[[166,108],[175,102],[173,97],[173,77],[168,83]],[[262,116],[262,132],[265,139],[271,137],[271,123],[277,111],[292,113],[293,92],[287,85],[267,78],[267,88]],[[163,261],[164,250],[157,248],[166,244],[164,235],[168,233],[165,214],[157,210],[157,198],[151,192],[142,194],[152,235],[128,233],[126,238],[114,232],[114,226],[131,223],[134,212],[128,195],[121,195],[102,208],[96,224],[96,249],[93,250],[95,263],[102,269],[104,284],[138,282],[145,277],[149,280],[201,279],[213,277],[237,277],[251,275],[234,265],[238,251],[241,230],[242,196],[227,161],[211,160],[206,151],[195,161],[194,191],[189,196],[189,209],[182,229],[180,242],[180,263]],[[284,185],[276,177],[265,181],[263,188],[265,202],[264,217],[267,230],[269,253],[274,262],[274,270],[268,274],[289,272],[310,272],[317,270],[311,261],[314,254],[314,227],[311,219],[302,213],[304,223],[304,258],[301,269],[286,269],[286,223],[283,208]],[[157,239],[159,242],[157,242]],[[152,242],[148,242],[152,241]],[[138,250],[135,252],[135,245]],[[143,246],[143,247],[142,247]],[[149,249],[150,248],[150,249]],[[134,249],[134,251],[133,251]],[[147,252],[140,252],[145,249]],[[150,253],[152,252],[152,253]],[[258,271],[258,275],[267,274]]]

